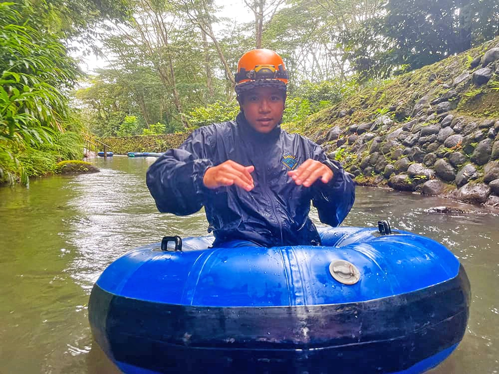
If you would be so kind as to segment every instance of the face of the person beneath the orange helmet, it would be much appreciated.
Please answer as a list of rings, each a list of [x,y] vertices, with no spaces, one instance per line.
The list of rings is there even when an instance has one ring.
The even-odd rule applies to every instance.
[[[284,112],[285,94],[273,87],[259,87],[242,95],[241,109],[250,126],[268,134],[280,122]]]

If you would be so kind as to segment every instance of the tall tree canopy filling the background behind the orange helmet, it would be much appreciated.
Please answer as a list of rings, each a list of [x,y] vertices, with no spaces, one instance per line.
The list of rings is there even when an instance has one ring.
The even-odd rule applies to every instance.
[[[115,22],[113,31],[104,36],[106,50],[115,58],[108,70],[92,78],[95,88],[104,80],[128,93],[120,101],[122,107],[126,103],[121,119],[125,114],[136,116],[137,133],[157,121],[169,129],[188,129],[199,108],[214,105],[218,112],[220,103],[226,102],[227,113],[232,113],[237,61],[254,47],[274,49],[284,58],[291,77],[290,97],[301,95],[301,86],[316,84],[321,90],[329,87],[326,96],[339,100],[338,93],[348,91],[349,80],[362,83],[416,69],[499,33],[494,0],[255,0],[245,4],[254,22],[220,18],[219,7],[209,0],[130,2],[133,15]],[[108,79],[111,71],[116,76],[112,81]],[[340,88],[342,84],[345,87]],[[86,89],[77,96],[93,107],[94,118],[106,122],[102,116],[112,116],[116,108],[99,112],[91,93]],[[315,102],[312,107],[321,106]],[[113,118],[114,125],[98,125],[94,130],[116,135],[119,121]]]

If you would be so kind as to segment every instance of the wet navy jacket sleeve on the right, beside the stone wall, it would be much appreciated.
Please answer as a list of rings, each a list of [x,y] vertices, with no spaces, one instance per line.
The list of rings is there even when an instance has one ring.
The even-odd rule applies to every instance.
[[[355,184],[340,163],[329,160],[318,145],[315,147],[313,159],[327,165],[333,172],[333,178],[326,184],[318,180],[312,185],[312,203],[317,208],[320,221],[335,227],[352,208]]]

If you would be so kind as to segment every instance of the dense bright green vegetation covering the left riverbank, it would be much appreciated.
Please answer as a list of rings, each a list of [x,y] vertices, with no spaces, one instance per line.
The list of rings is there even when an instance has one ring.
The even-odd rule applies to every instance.
[[[0,2],[0,184],[28,184],[81,157],[82,126],[68,100],[80,72],[63,39],[83,37],[80,26],[99,16],[92,10],[90,1]]]

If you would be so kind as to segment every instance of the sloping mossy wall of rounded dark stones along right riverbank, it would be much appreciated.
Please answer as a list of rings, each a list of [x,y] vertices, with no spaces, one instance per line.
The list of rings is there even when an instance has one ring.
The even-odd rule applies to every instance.
[[[338,110],[316,142],[359,184],[499,207],[499,43],[452,71],[415,103],[406,121],[397,120],[396,105],[360,124],[348,123],[354,108]],[[478,115],[462,111],[471,99],[484,103]]]

